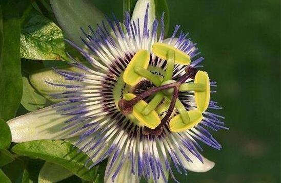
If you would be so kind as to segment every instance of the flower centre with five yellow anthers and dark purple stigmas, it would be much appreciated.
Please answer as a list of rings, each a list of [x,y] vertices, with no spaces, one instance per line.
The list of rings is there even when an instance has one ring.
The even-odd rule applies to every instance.
[[[163,43],[154,43],[152,52],[166,62],[164,67],[151,65],[151,54],[147,50],[135,53],[125,71],[117,78],[114,87],[116,106],[133,123],[144,127],[144,134],[159,135],[169,122],[172,131],[195,126],[203,119],[202,112],[209,105],[210,84],[207,73],[198,72],[197,75],[196,68],[186,66],[186,73],[178,76],[177,81],[172,80],[175,63],[188,65],[190,57]],[[188,79],[194,79],[194,83],[185,83]],[[195,92],[198,110],[187,111],[178,99],[180,90]],[[163,104],[169,106],[165,116],[158,111],[158,108],[163,108]],[[179,115],[170,120],[175,109]]]

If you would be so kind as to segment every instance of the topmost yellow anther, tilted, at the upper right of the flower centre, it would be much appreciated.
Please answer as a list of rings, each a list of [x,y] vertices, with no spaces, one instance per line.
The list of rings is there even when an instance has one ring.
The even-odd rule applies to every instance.
[[[175,63],[188,65],[191,60],[188,54],[183,51],[180,51],[173,46],[165,43],[155,42],[152,45],[152,52],[159,58],[167,60],[167,55],[169,51],[174,51],[175,53]]]

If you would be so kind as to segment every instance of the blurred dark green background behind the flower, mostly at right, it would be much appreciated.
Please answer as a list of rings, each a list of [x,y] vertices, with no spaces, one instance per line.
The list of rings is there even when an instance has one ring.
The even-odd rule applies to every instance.
[[[95,0],[122,18],[122,1]],[[222,150],[205,146],[216,166],[176,175],[181,182],[280,182],[280,2],[168,0],[170,34],[179,24],[217,81],[212,96],[229,131],[215,132]],[[172,180],[171,180],[172,182]]]

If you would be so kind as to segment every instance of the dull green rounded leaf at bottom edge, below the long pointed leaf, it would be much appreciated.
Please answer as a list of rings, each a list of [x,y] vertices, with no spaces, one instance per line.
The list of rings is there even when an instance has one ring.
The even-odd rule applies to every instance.
[[[64,167],[46,162],[39,173],[38,183],[57,182],[72,175],[73,173]]]

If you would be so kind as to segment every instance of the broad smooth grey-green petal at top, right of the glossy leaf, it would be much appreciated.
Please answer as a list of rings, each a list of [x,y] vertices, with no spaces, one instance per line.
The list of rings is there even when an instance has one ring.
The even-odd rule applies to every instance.
[[[55,17],[66,33],[67,38],[81,47],[85,45],[80,39],[80,36],[83,36],[80,28],[89,33],[89,25],[95,29],[96,24],[101,24],[102,20],[105,19],[104,14],[90,0],[50,0],[50,3]]]

